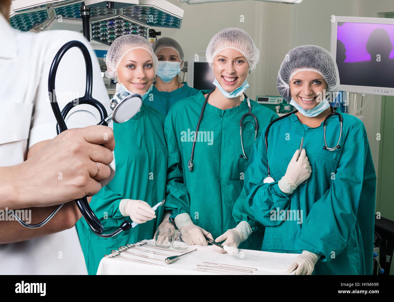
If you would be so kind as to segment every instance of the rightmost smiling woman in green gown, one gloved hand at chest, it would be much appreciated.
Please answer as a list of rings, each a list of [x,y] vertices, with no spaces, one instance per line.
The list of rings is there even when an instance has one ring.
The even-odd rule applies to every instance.
[[[272,123],[267,146],[256,140],[245,170],[262,250],[299,253],[288,274],[372,274],[374,163],[361,120],[327,102],[339,88],[333,57],[315,45],[290,50],[277,88],[297,112]]]

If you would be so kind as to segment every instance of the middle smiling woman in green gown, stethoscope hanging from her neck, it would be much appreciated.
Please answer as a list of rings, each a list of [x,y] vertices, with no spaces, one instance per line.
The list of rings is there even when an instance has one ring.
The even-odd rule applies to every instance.
[[[209,91],[200,91],[179,100],[165,119],[169,152],[165,206],[172,211],[177,228],[188,231],[190,244],[207,245],[204,236],[217,238],[233,228],[227,243],[241,242],[257,227],[252,213],[248,215],[246,211],[237,226],[232,212],[242,190],[245,157],[249,156],[255,140],[255,127],[251,123],[255,120],[248,115],[243,119],[244,154],[240,120],[249,112],[249,100],[244,98],[243,92],[249,87],[246,78],[256,69],[259,51],[246,31],[227,28],[211,39],[206,58],[213,67],[216,88],[209,96]],[[253,100],[249,102],[251,113],[258,120],[259,134],[277,115]],[[197,123],[198,138],[195,136]],[[195,137],[190,171],[188,161]],[[260,249],[262,234],[257,237],[260,244],[249,241],[244,247]]]

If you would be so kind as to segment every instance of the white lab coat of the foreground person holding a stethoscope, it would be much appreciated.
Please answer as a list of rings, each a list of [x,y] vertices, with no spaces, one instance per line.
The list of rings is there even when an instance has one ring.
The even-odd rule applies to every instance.
[[[48,73],[56,52],[71,40],[85,41],[93,61],[93,98],[110,112],[99,63],[82,34],[63,30],[22,33],[0,14],[0,166],[22,163],[28,148],[56,136]],[[56,75],[60,109],[84,95],[85,78],[82,53],[72,48],[63,56]],[[0,274],[87,274],[75,227],[0,245],[0,261]]]

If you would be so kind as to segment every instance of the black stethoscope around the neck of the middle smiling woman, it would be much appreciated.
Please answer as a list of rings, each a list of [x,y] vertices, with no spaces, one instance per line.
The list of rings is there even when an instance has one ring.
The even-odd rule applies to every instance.
[[[192,170],[192,168],[193,168],[194,148],[195,148],[195,144],[196,144],[196,141],[197,141],[197,133],[198,133],[198,130],[199,130],[199,128],[200,128],[201,120],[203,119],[205,106],[206,106],[206,104],[208,103],[208,98],[209,98],[209,96],[211,95],[211,93],[214,92],[214,91],[215,91],[215,89],[212,89],[212,90],[207,94],[207,96],[206,96],[206,98],[205,98],[205,101],[204,101],[204,104],[203,104],[203,108],[201,109],[200,118],[199,118],[199,120],[198,120],[197,127],[196,127],[196,132],[195,132],[195,135],[194,135],[193,146],[191,147],[190,159],[188,160],[188,168],[189,168],[189,171],[190,171],[190,172],[191,172],[191,170]],[[255,140],[256,140],[257,132],[258,132],[258,121],[257,121],[256,116],[252,113],[252,107],[251,107],[251,105],[250,105],[249,98],[246,96],[245,93],[243,94],[243,97],[244,97],[244,99],[246,99],[247,106],[248,106],[248,112],[245,113],[244,115],[242,115],[241,120],[240,120],[240,135],[241,135],[241,146],[242,146],[242,153],[243,153],[243,155],[240,154],[240,157],[241,157],[241,158],[248,159],[248,157],[247,157],[246,154],[245,154],[245,150],[243,150],[242,128],[243,128],[243,125],[246,124],[247,122],[252,123],[253,126],[255,127]],[[242,99],[242,100],[243,100],[243,99]],[[245,122],[243,123],[243,120],[244,120],[245,117],[247,117],[248,115],[250,115],[251,117],[253,117],[253,119],[255,119],[255,123],[252,122],[251,120],[247,120],[247,121],[245,121]]]

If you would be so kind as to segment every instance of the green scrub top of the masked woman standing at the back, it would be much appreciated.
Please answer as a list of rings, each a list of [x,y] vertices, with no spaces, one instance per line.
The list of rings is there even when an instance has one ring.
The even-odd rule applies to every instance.
[[[182,84],[182,87],[170,92],[158,91],[153,85],[151,93],[148,94],[144,102],[164,115],[167,115],[169,109],[175,102],[199,92],[199,90],[189,87],[186,82]]]

